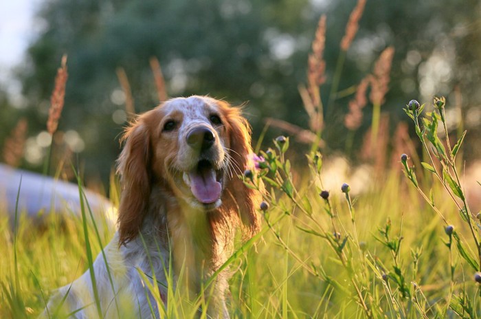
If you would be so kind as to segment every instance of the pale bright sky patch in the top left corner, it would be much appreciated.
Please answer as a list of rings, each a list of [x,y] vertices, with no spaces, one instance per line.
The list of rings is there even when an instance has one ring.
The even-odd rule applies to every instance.
[[[10,94],[19,94],[20,85],[12,76],[34,35],[34,12],[39,0],[0,1],[0,85]]]

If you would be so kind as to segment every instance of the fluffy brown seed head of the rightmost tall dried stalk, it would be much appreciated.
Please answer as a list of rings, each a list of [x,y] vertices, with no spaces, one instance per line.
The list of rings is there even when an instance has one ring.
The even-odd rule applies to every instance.
[[[374,65],[374,74],[371,81],[371,94],[369,96],[372,104],[382,105],[385,94],[389,91],[390,72],[394,47],[387,47],[379,56]]]

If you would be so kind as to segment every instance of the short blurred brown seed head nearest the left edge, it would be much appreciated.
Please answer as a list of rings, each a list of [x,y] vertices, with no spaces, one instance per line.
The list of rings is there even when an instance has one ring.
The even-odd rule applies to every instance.
[[[3,146],[3,161],[12,166],[18,167],[25,150],[25,140],[27,139],[27,120],[21,118],[5,140]]]

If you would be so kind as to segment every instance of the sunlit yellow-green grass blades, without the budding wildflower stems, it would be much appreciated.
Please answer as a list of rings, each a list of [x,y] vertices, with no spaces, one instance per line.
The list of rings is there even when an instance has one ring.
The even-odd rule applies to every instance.
[[[355,198],[355,224],[340,186],[339,190],[331,190],[331,214],[340,239],[320,236],[320,228],[330,234],[333,226],[326,213],[326,201],[317,195],[309,177],[302,179],[298,195],[305,195],[309,201],[311,217],[287,195],[277,192],[280,198],[271,203],[265,214],[270,228],[266,221],[264,234],[256,245],[232,259],[231,270],[237,270],[230,282],[232,317],[366,318],[368,313],[359,304],[354,283],[374,318],[421,318],[423,315],[441,318],[454,314],[447,309],[451,287],[456,296],[467,294],[473,309],[479,309],[476,308],[479,297],[474,272],[454,248],[453,261],[450,261],[443,222],[400,173],[401,164],[392,168],[383,184]],[[444,200],[440,186],[435,186],[433,193],[434,200],[440,203],[438,209],[472,247],[469,229],[460,219],[456,206]],[[301,205],[306,206],[306,201]],[[390,240],[396,242],[402,236],[396,256],[386,247],[379,232],[379,228],[385,229],[387,221],[390,221]],[[100,252],[96,239],[100,238],[104,245],[112,234],[100,231],[97,235],[91,223],[85,229],[95,256]],[[1,318],[38,316],[52,289],[70,283],[89,267],[82,219],[72,217],[60,221],[52,215],[45,228],[38,229],[21,217],[15,241],[5,217],[1,219],[0,230]],[[342,265],[333,249],[346,236],[342,251],[350,263],[348,267]],[[357,243],[361,243],[363,249],[357,248]],[[416,252],[421,252],[420,256],[416,257]],[[452,285],[451,263],[456,265]],[[401,285],[396,283],[394,266],[403,276],[401,285],[405,285],[405,296]],[[172,293],[169,298],[179,296]],[[176,317],[176,311],[170,311],[172,318]],[[476,316],[476,311],[473,313]]]

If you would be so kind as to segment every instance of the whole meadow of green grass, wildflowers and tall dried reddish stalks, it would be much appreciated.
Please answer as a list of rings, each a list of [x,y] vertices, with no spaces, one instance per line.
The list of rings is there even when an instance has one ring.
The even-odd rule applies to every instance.
[[[359,3],[342,39],[327,98],[320,94],[326,80],[322,59],[326,18],[320,19],[307,84],[300,85],[309,127],[293,129],[309,147],[293,148],[294,138],[288,136],[264,140],[264,131],[256,146],[258,167],[238,172],[246,187],[258,188],[262,181],[267,192],[259,207],[262,229],[245,242],[239,235],[234,254],[223,265],[232,272],[228,296],[232,318],[481,317],[481,215],[471,211],[460,178],[465,133],[455,142],[447,138],[445,98],[435,98],[429,105],[411,100],[399,106],[405,109],[416,143],[406,137],[394,147],[392,164],[378,167],[378,157],[387,162],[381,105],[388,91],[392,47],[381,53],[372,74],[355,86],[346,115],[348,153],[370,87],[368,179],[359,184],[347,175],[337,186],[330,183],[326,166],[333,161],[320,148],[323,106],[329,111],[339,91],[342,63],[363,10]],[[52,135],[65,93],[65,63],[66,58],[52,94]],[[299,149],[304,149],[302,155]],[[115,205],[115,177],[110,190]],[[0,213],[0,318],[37,317],[53,290],[91,267],[92,258],[113,236],[93,223],[87,203],[80,217],[47,214],[42,227],[22,212],[16,212],[14,220]],[[157,300],[162,315],[206,318],[203,293],[186,298],[181,284],[175,289],[172,274],[169,278],[167,306]],[[214,279],[215,274],[204,289]],[[148,289],[155,292],[155,286]],[[125,318],[135,317],[118,307]]]

